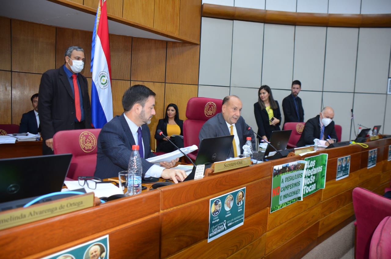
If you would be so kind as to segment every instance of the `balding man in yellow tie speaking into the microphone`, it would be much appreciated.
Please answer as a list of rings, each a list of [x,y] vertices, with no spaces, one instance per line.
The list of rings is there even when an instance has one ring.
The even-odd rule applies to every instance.
[[[244,144],[246,144],[246,138],[251,137],[253,150],[256,150],[254,133],[248,130],[249,126],[240,116],[242,106],[242,101],[236,95],[224,97],[221,113],[217,113],[205,122],[199,131],[199,141],[201,142],[203,138],[234,135],[228,157],[237,157],[241,154]]]

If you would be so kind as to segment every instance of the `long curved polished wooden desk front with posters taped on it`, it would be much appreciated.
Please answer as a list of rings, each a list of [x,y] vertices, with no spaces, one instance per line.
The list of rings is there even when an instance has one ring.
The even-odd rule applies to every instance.
[[[326,187],[272,214],[273,166],[292,156],[169,185],[91,209],[0,231],[0,258],[39,258],[109,234],[110,258],[301,258],[354,218],[352,190],[389,186],[391,139],[325,149]],[[368,150],[377,165],[367,169]],[[335,181],[337,158],[351,155],[350,175]],[[209,199],[246,186],[244,225],[208,243]],[[17,247],[17,249],[15,249]]]

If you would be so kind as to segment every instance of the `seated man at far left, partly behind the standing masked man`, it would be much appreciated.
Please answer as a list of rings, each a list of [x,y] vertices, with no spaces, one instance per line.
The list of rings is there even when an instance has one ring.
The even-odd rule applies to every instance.
[[[32,133],[37,134],[41,132],[39,128],[38,117],[38,94],[34,94],[30,98],[32,104],[32,110],[30,112],[23,113],[20,120],[19,133]]]

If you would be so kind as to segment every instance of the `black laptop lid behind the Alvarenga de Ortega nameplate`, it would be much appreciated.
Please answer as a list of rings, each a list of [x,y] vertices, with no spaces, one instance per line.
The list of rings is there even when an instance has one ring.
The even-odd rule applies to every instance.
[[[72,154],[0,159],[0,203],[61,191]]]

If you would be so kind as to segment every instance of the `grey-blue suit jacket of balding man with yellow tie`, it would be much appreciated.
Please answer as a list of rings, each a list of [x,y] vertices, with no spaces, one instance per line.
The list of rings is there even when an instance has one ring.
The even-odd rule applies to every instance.
[[[243,117],[240,116],[239,120],[235,123],[235,128],[239,137],[239,147],[240,153],[243,153],[242,147],[246,144],[246,138],[251,137],[251,143],[253,144],[253,150],[255,151],[255,138],[254,133],[248,130],[249,126],[244,121]],[[203,138],[212,138],[212,137],[221,137],[231,135],[230,130],[227,127],[227,123],[222,117],[222,113],[217,113],[217,115],[210,118],[202,126],[201,131],[199,131],[199,142]],[[233,146],[231,146],[228,157],[233,157]]]

